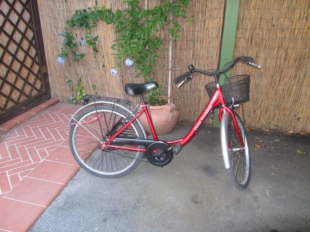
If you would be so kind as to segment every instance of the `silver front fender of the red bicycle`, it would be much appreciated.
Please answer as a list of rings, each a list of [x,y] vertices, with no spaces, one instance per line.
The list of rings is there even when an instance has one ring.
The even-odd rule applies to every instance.
[[[222,157],[224,161],[224,167],[226,169],[230,168],[230,160],[228,154],[228,130],[227,123],[230,113],[227,110],[223,110],[223,114],[221,117],[221,147],[222,147]]]

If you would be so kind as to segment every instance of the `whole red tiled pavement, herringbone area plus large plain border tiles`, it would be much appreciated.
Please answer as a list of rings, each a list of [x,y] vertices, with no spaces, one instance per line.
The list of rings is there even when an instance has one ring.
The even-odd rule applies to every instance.
[[[0,231],[29,230],[79,169],[67,128],[79,107],[57,103],[31,110],[25,115],[38,114],[22,123],[19,117],[19,125],[0,136]]]

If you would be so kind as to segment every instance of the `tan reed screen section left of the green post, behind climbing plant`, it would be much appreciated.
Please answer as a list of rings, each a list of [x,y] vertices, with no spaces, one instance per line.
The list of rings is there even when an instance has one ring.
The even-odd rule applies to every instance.
[[[63,38],[58,34],[64,31],[65,21],[70,18],[76,9],[86,9],[93,6],[95,1],[52,1],[40,0],[39,10],[42,24],[42,33],[45,43],[45,53],[47,57],[47,67],[51,85],[51,95],[60,101],[67,101],[72,96],[69,85],[66,85],[68,79],[77,80],[82,77],[87,92],[99,95],[125,97],[133,100],[135,103],[138,98],[132,98],[125,94],[123,86],[128,83],[143,82],[142,78],[135,79],[134,67],[118,69],[119,74],[115,77],[110,75],[110,69],[114,66],[114,60],[111,55],[113,50],[110,48],[113,40],[116,38],[113,24],[107,25],[100,22],[92,30],[92,35],[99,35],[98,50],[96,58],[88,46],[82,46],[82,51],[86,57],[82,61],[65,60],[63,64],[56,62],[57,54],[60,53]],[[99,5],[111,7],[113,11],[125,9],[126,4],[122,1],[98,1]],[[141,1],[141,7],[154,7],[161,4],[160,0]],[[216,68],[219,59],[220,37],[223,22],[224,1],[199,0],[191,1],[188,7],[189,15],[194,15],[193,25],[190,26],[184,22],[184,19],[178,19],[183,28],[180,32],[181,39],[173,43],[172,49],[172,79],[188,71],[189,64],[197,68],[208,69]],[[184,24],[184,25],[183,25]],[[168,25],[169,26],[169,25]],[[85,31],[76,30],[78,38],[83,37]],[[168,91],[168,66],[169,66],[169,33],[164,30],[159,37],[164,41],[162,45],[161,57],[154,68],[154,78],[157,81],[163,79],[164,95]],[[102,58],[104,56],[104,58]],[[126,59],[126,58],[125,58]],[[105,67],[102,67],[104,64]],[[178,89],[176,84],[171,83],[171,97],[175,99],[175,104],[181,111],[180,120],[193,121],[201,113],[207,102],[207,94],[204,85],[212,81],[212,77],[197,76],[190,83],[184,84]],[[92,84],[96,84],[95,89],[91,89]]]

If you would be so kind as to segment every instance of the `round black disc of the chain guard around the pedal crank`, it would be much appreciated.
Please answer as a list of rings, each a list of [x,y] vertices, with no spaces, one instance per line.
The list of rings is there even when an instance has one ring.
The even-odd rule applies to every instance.
[[[170,146],[165,142],[154,142],[146,149],[146,158],[151,164],[163,167],[169,164],[173,158],[172,149],[169,148]],[[165,151],[162,152],[163,150]]]

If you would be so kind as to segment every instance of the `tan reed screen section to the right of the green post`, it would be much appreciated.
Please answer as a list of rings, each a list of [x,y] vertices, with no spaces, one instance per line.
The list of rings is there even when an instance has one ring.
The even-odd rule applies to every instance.
[[[310,1],[240,1],[235,57],[255,57],[247,126],[310,132]]]

